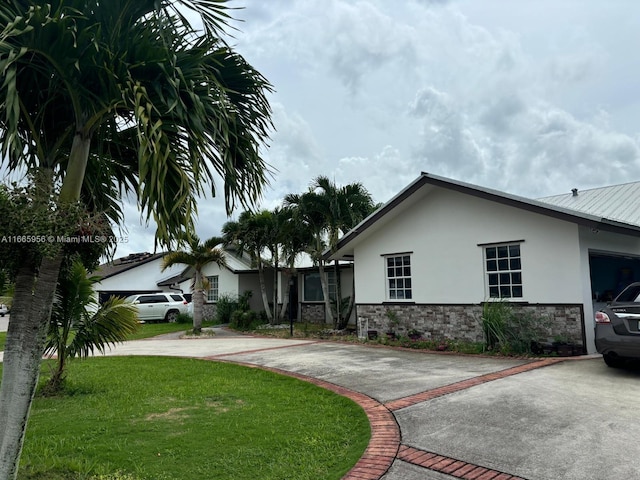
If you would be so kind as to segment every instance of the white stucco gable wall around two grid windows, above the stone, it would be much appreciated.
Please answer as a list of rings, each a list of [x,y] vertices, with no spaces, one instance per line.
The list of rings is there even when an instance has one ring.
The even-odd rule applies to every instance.
[[[358,303],[387,300],[385,254],[412,252],[413,302],[487,298],[483,247],[523,240],[523,294],[531,303],[582,303],[578,227],[451,190],[433,189],[357,244]]]

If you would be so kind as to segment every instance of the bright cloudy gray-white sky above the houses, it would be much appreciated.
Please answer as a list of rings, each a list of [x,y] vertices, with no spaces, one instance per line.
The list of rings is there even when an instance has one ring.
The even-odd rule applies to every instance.
[[[232,5],[231,44],[275,88],[263,208],[318,175],[376,202],[422,171],[530,198],[640,180],[640,2]],[[153,249],[138,220],[118,256]],[[203,199],[198,234],[226,220]]]

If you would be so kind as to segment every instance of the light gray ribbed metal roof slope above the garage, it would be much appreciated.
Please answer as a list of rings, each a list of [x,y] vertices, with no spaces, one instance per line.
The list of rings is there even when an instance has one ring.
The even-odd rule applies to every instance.
[[[640,226],[640,182],[576,190],[538,199],[556,207]]]

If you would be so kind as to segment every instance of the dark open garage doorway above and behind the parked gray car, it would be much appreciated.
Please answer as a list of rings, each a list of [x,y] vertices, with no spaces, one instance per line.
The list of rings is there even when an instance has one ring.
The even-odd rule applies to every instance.
[[[627,285],[640,282],[640,256],[589,252],[594,308],[606,305]]]

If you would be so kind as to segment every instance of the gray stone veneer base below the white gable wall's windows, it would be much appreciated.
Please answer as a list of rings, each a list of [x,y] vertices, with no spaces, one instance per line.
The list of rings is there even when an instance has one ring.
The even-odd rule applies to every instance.
[[[553,342],[562,337],[584,345],[584,310],[581,304],[512,304],[513,312],[534,319],[540,340]],[[395,331],[407,335],[421,332],[426,339],[450,339],[482,342],[482,305],[357,304],[359,334],[367,330],[379,334],[391,331],[389,312],[395,314]]]

